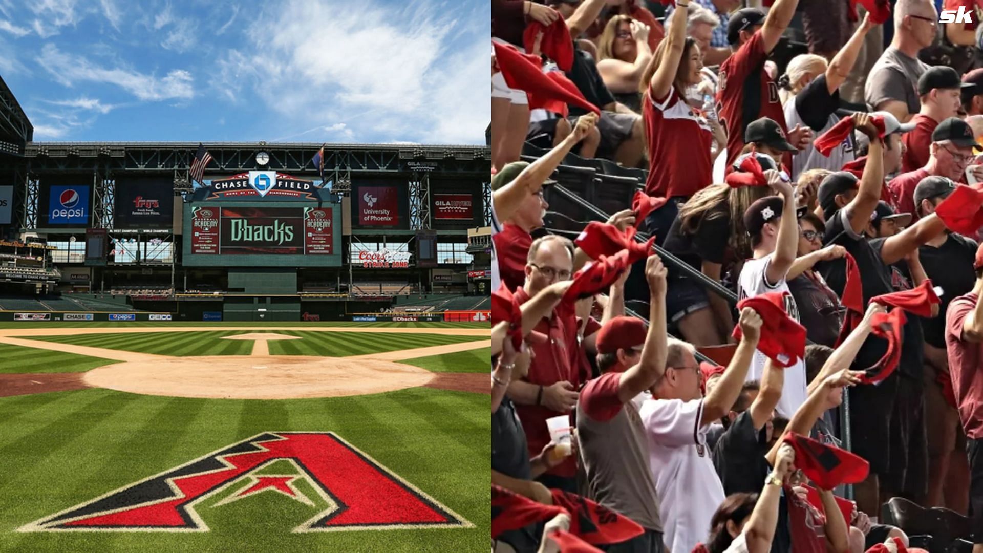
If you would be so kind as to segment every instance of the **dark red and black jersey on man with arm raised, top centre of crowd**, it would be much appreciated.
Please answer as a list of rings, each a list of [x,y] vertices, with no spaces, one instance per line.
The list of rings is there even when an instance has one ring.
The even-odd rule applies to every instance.
[[[765,72],[767,58],[758,30],[721,64],[717,111],[727,123],[728,166],[744,148],[744,129],[752,121],[769,117],[788,134],[779,86]]]

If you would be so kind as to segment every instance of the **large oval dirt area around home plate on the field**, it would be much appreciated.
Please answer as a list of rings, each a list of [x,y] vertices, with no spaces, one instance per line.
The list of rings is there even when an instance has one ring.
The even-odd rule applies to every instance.
[[[88,371],[85,382],[149,396],[295,399],[379,394],[424,386],[433,378],[430,371],[376,359],[216,355],[106,365]]]

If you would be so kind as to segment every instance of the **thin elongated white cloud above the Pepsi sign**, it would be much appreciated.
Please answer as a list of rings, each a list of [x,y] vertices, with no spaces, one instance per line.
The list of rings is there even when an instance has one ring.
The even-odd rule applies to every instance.
[[[162,78],[131,69],[108,69],[83,56],[63,53],[54,44],[44,45],[37,63],[66,87],[72,87],[77,82],[107,83],[142,100],[188,99],[195,95],[194,79],[183,69],[171,70]]]

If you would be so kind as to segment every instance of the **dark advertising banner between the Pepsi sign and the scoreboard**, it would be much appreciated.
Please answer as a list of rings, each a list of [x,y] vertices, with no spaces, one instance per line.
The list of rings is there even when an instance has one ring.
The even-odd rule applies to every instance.
[[[173,178],[118,177],[115,228],[170,228],[174,222]]]

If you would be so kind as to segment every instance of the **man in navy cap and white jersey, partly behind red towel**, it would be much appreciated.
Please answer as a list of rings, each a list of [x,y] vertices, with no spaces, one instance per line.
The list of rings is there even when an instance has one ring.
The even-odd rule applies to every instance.
[[[737,279],[739,299],[754,297],[766,292],[785,292],[785,312],[799,320],[795,299],[788,291],[785,277],[795,263],[798,247],[798,218],[795,213],[795,197],[790,183],[780,174],[766,171],[768,184],[779,196],[758,200],[744,212],[744,225],[751,236],[752,259],[744,262]],[[768,358],[755,351],[748,380],[761,380]],[[806,399],[805,363],[798,359],[785,369],[785,385],[779,400],[778,411],[789,418]]]

